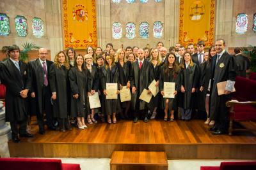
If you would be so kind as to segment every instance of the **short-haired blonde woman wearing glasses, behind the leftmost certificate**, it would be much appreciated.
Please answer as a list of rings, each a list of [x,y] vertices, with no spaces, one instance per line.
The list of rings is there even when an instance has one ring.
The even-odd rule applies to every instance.
[[[97,67],[92,65],[92,60],[93,60],[92,55],[90,55],[90,54],[84,55],[84,62],[86,62],[86,69],[88,69],[88,71],[90,71],[92,80],[93,80],[97,73]],[[91,83],[90,86],[92,87],[92,81],[90,83]],[[88,110],[88,115],[87,115],[88,124],[93,124],[93,123],[96,124],[97,120],[95,120],[95,118],[94,118],[95,109],[92,109],[92,110],[90,109],[89,101],[87,102],[87,110]]]

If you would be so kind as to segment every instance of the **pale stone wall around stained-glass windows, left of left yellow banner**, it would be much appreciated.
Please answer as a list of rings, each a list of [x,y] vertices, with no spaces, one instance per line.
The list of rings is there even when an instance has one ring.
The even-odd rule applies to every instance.
[[[9,36],[0,36],[0,48],[6,45],[16,44],[22,48],[26,42],[46,47],[54,56],[63,48],[62,25],[61,25],[61,1],[60,0],[1,0],[0,13],[5,13],[10,19]],[[28,35],[19,37],[15,31],[15,17],[24,16],[28,21]],[[34,17],[44,21],[44,36],[35,38],[32,34],[31,22]]]

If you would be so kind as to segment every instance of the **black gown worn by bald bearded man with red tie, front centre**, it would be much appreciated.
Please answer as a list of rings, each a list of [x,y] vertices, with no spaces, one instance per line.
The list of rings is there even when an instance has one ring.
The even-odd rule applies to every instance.
[[[139,61],[136,60],[132,63],[132,81],[131,87],[136,87],[136,94],[132,94],[132,109],[136,110],[136,101],[139,100],[140,94],[144,89],[148,90],[148,86],[154,80],[154,71],[153,67],[147,60],[143,61],[141,69],[139,68]],[[146,104],[145,101],[139,101],[140,110],[145,110]]]

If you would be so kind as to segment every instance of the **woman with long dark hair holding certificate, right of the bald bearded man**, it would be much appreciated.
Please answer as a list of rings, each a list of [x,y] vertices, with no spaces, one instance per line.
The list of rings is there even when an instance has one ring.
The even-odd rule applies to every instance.
[[[180,90],[180,67],[177,62],[175,62],[175,53],[168,53],[166,57],[168,62],[161,67],[159,90],[164,97],[164,121],[168,120],[168,110],[170,110],[170,121],[173,121],[176,103],[175,96]],[[170,85],[169,87],[171,88],[168,88],[168,85]]]

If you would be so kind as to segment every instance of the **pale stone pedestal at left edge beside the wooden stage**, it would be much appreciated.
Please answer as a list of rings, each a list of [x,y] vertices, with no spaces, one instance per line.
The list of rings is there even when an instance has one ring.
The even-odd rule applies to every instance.
[[[5,122],[5,107],[0,101],[0,157],[10,157],[8,141],[11,137],[11,127]]]

